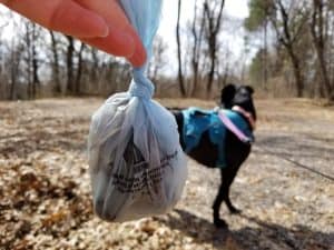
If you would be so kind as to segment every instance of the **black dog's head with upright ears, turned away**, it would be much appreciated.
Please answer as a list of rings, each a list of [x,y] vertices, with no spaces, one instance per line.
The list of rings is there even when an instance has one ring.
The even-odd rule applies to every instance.
[[[256,120],[256,110],[253,102],[254,89],[250,86],[227,84],[222,90],[220,102],[225,109],[237,106],[250,112]]]

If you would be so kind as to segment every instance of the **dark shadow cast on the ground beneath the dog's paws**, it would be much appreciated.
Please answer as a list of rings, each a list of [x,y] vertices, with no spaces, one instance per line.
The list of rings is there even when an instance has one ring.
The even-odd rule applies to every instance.
[[[197,243],[209,243],[216,249],[331,249],[334,232],[314,231],[302,224],[286,228],[240,214],[249,226],[239,230],[216,229],[215,226],[186,210],[174,210],[166,219],[157,220],[190,237]]]

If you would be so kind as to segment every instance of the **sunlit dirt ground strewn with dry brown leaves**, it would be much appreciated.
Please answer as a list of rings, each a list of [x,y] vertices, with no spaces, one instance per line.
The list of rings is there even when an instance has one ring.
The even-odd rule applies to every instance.
[[[0,249],[334,249],[334,108],[310,100],[256,100],[256,143],[233,187],[243,210],[212,223],[217,169],[189,160],[183,199],[169,214],[107,223],[91,211],[86,140],[102,100],[0,102]],[[214,107],[160,100],[168,107]],[[320,173],[316,173],[317,171]]]

